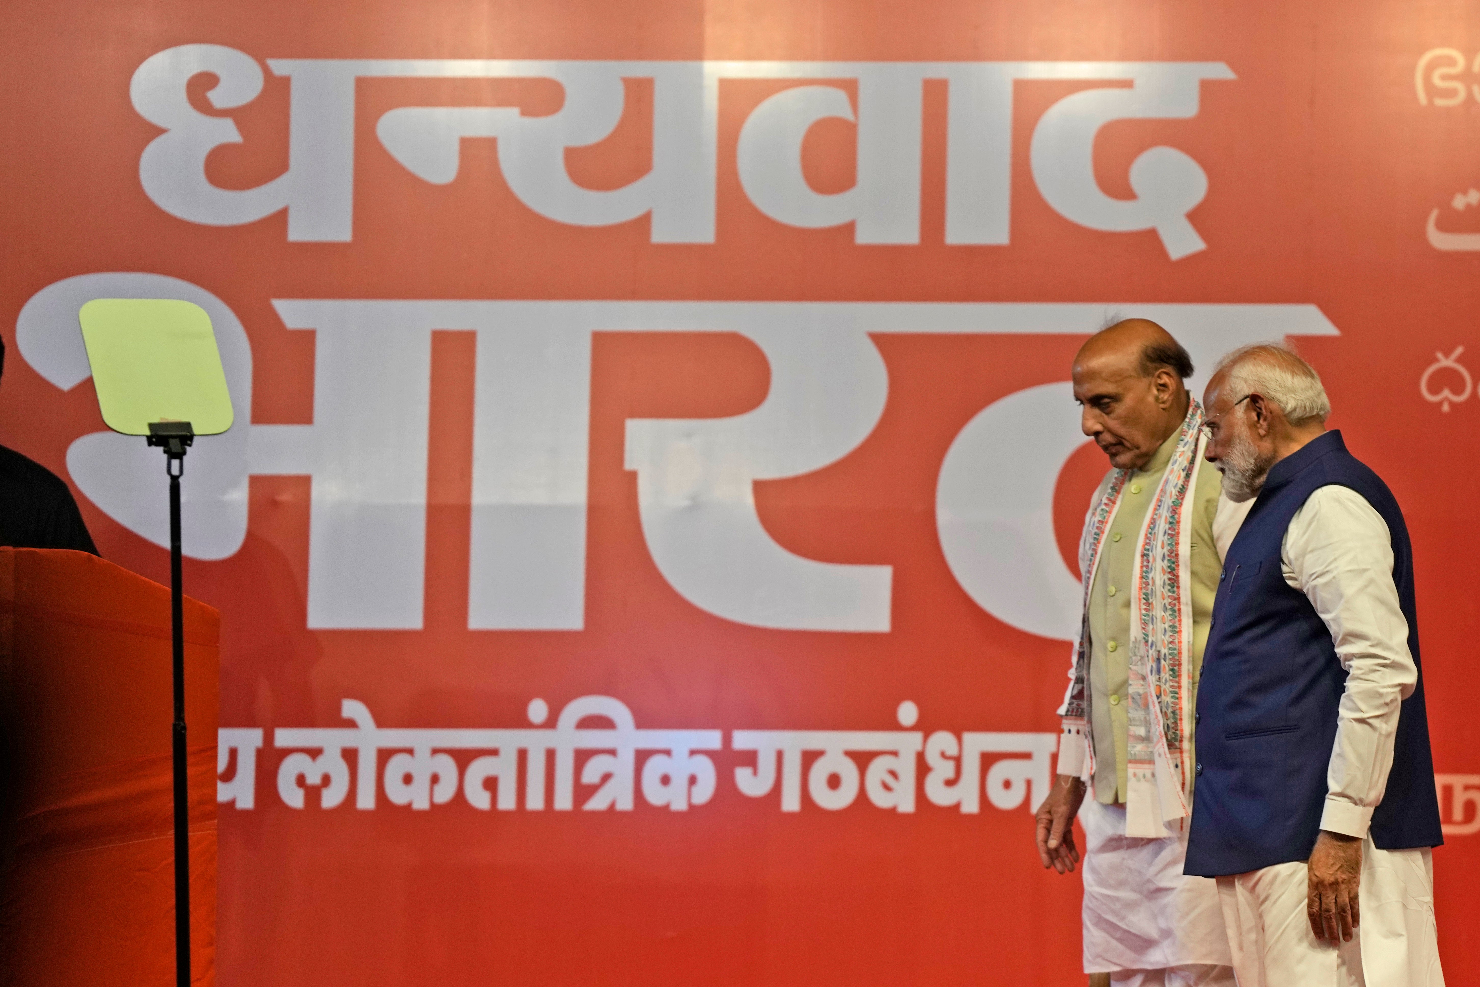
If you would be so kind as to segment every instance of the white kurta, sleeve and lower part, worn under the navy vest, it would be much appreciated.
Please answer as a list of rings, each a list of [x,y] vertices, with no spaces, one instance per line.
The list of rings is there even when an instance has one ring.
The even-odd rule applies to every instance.
[[[1378,849],[1368,835],[1393,767],[1400,703],[1418,682],[1387,522],[1354,490],[1322,487],[1291,519],[1280,561],[1347,669],[1320,826],[1363,838],[1360,926],[1351,943],[1316,938],[1304,861],[1218,877],[1239,986],[1443,987],[1430,851]]]

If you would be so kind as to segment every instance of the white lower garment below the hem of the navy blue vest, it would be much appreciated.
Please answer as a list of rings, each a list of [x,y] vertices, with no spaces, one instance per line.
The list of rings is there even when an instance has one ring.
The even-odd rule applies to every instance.
[[[1362,843],[1359,925],[1317,940],[1305,917],[1304,861],[1218,877],[1239,987],[1444,987],[1428,849]]]

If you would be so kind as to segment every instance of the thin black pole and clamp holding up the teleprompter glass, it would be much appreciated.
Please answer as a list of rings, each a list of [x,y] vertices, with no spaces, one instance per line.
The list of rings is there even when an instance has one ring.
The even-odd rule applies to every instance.
[[[149,445],[164,450],[170,476],[170,626],[175,679],[175,983],[189,987],[189,790],[185,771],[185,595],[181,589],[181,475],[195,441],[189,422],[149,422]]]

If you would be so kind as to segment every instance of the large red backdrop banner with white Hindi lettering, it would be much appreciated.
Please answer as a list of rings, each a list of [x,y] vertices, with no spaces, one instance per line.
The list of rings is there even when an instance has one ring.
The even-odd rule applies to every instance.
[[[24,4],[0,441],[167,574],[75,314],[212,315],[223,984],[1073,983],[1107,315],[1286,337],[1413,536],[1474,946],[1480,21],[1385,3]],[[13,331],[12,331],[13,327]]]

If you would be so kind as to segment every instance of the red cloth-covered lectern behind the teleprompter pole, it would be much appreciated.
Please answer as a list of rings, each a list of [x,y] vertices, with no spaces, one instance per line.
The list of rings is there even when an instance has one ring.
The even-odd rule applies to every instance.
[[[185,601],[192,980],[215,981],[221,616]],[[0,984],[175,983],[170,590],[0,549]]]

